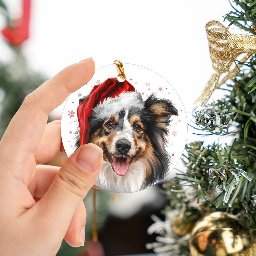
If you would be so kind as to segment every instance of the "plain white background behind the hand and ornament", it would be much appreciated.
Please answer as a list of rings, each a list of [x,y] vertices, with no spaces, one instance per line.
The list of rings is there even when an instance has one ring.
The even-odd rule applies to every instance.
[[[19,15],[20,2],[5,1],[13,17]],[[210,20],[222,22],[222,16],[231,10],[228,0],[32,0],[32,4],[30,38],[23,50],[33,70],[51,77],[86,57],[93,57],[96,69],[115,59],[141,65],[173,86],[188,120],[192,119],[193,102],[212,73],[205,24]],[[4,25],[0,18],[0,28]],[[0,37],[0,60],[8,62],[11,58]],[[219,95],[220,91],[214,93],[215,98]],[[63,106],[53,115],[59,117],[62,109]],[[188,142],[219,138],[200,137],[192,132],[188,129]],[[131,200],[136,208],[133,197],[140,207],[140,196],[144,201],[154,200],[153,196],[145,196],[153,189],[123,196],[127,204]]]

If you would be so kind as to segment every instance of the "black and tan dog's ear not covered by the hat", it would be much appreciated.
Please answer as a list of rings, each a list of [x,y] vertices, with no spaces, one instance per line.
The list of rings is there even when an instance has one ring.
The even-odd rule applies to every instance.
[[[159,99],[155,94],[150,95],[145,101],[145,109],[150,112],[152,121],[165,131],[168,131],[171,116],[178,115],[178,110],[171,100]]]

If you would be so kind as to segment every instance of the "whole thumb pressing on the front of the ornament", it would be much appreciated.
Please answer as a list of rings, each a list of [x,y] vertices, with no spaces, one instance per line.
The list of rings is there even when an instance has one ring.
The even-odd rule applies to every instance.
[[[44,223],[65,236],[79,203],[99,175],[102,149],[94,144],[78,148],[61,167],[53,183],[36,204]],[[62,237],[62,238],[63,238]]]

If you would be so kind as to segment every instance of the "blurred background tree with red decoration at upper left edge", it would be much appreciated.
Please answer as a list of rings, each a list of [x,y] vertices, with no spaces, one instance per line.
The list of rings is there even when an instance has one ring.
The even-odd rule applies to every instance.
[[[0,62],[0,139],[26,95],[46,80],[28,67],[21,51],[23,42],[28,38],[29,10],[29,1],[24,1],[22,17],[12,20],[0,0],[0,12],[6,19],[6,27],[1,32],[12,55],[9,63]]]

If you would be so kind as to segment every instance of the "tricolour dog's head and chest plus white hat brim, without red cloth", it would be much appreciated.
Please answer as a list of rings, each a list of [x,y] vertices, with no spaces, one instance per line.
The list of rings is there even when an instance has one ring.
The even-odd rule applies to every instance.
[[[144,102],[138,92],[121,93],[95,106],[89,143],[102,148],[104,159],[95,185],[134,192],[165,178],[170,164],[165,136],[172,115],[178,112],[170,100],[152,94]],[[76,134],[78,148],[79,131]]]

